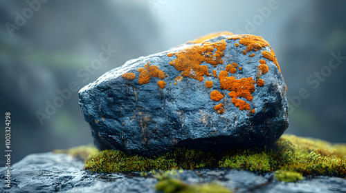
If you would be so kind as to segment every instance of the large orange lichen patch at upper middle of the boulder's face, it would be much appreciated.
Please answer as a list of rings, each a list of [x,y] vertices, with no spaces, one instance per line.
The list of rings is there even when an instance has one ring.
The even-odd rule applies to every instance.
[[[215,54],[212,52],[215,51]],[[183,77],[189,77],[203,81],[203,75],[210,76],[208,67],[201,65],[203,61],[210,63],[215,67],[218,64],[224,63],[221,57],[224,56],[224,50],[226,48],[226,41],[221,40],[215,43],[205,43],[203,45],[192,45],[184,50],[174,53],[176,59],[170,61],[170,65],[173,65],[176,70],[182,71]]]

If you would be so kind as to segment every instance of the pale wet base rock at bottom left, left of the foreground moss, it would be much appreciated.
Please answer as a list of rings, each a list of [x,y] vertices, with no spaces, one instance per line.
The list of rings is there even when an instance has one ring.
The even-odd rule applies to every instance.
[[[6,168],[0,169],[1,182]],[[30,154],[12,165],[11,188],[0,192],[155,192],[156,179],[136,172],[98,174],[84,171],[84,163],[66,154]]]

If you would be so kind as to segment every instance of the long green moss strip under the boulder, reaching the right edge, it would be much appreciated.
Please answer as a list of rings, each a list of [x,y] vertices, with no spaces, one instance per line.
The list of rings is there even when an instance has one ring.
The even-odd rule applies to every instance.
[[[185,170],[199,167],[230,167],[238,170],[299,172],[304,176],[346,176],[346,145],[333,145],[318,139],[283,135],[265,148],[237,149],[225,152],[176,149],[154,159],[105,150],[86,159],[85,169],[94,172],[131,172]]]

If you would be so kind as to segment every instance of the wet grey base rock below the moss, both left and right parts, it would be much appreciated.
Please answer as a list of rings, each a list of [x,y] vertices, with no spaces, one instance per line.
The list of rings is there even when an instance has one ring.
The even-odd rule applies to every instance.
[[[6,168],[0,168],[0,180]],[[155,192],[158,182],[152,175],[138,172],[98,174],[83,170],[82,161],[66,154],[30,154],[12,165],[12,187],[0,192]],[[217,181],[235,192],[346,192],[346,179],[320,176],[296,183],[278,182],[273,174],[255,174],[226,169],[184,170],[184,183]]]

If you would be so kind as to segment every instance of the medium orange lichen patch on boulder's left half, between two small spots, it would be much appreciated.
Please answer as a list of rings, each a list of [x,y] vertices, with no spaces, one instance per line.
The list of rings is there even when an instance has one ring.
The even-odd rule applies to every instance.
[[[144,65],[144,68],[139,68],[138,72],[140,72],[138,78],[138,83],[140,85],[149,83],[152,77],[160,78],[161,80],[167,77],[165,72],[158,70],[156,65],[150,65],[149,62]]]

